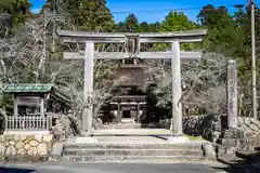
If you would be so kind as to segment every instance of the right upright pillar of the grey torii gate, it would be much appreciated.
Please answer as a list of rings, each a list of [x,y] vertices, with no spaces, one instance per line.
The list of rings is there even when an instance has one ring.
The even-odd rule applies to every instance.
[[[171,43],[172,58],[171,58],[171,71],[172,71],[172,122],[171,130],[172,135],[182,135],[182,105],[179,102],[182,94],[181,89],[181,59],[180,59],[180,43],[174,41]]]

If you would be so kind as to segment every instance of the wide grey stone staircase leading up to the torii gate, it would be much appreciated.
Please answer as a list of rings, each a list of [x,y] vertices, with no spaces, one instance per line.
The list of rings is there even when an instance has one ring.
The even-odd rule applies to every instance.
[[[205,159],[202,144],[67,144],[60,161],[150,162]]]

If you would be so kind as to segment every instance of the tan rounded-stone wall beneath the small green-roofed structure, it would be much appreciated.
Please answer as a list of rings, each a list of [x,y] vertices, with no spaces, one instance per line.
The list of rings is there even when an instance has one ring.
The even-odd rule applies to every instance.
[[[0,135],[0,158],[17,160],[44,159],[53,146],[52,134],[4,134]]]

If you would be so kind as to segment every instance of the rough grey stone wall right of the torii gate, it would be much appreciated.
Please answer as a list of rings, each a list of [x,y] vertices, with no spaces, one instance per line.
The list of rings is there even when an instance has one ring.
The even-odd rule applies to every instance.
[[[224,147],[224,152],[253,150],[260,146],[260,121],[247,117],[237,117],[237,129],[226,129],[226,117],[194,116],[183,118],[183,133],[203,136]],[[160,122],[162,128],[170,128],[170,120]]]

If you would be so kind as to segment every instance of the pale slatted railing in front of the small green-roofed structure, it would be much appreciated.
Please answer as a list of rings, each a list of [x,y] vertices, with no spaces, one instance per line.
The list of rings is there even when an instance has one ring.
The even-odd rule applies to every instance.
[[[49,131],[51,127],[51,116],[5,117],[5,131]]]

